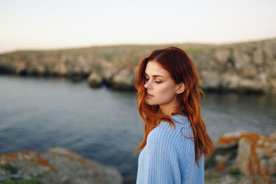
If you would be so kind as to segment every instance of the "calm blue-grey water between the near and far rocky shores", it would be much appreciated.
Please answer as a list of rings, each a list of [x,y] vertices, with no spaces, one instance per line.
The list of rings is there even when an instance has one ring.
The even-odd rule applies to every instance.
[[[92,89],[86,81],[0,76],[0,152],[37,150],[52,145],[114,165],[136,176],[144,137],[134,105],[135,92]],[[276,130],[276,99],[270,95],[207,93],[202,114],[213,141],[225,132]]]

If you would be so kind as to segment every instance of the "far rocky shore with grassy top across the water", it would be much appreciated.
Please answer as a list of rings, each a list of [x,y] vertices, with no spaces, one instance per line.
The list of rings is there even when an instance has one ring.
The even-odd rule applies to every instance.
[[[0,54],[0,74],[65,76],[115,90],[133,90],[141,59],[168,45],[118,45]],[[180,44],[204,90],[276,94],[276,39],[227,45]]]

